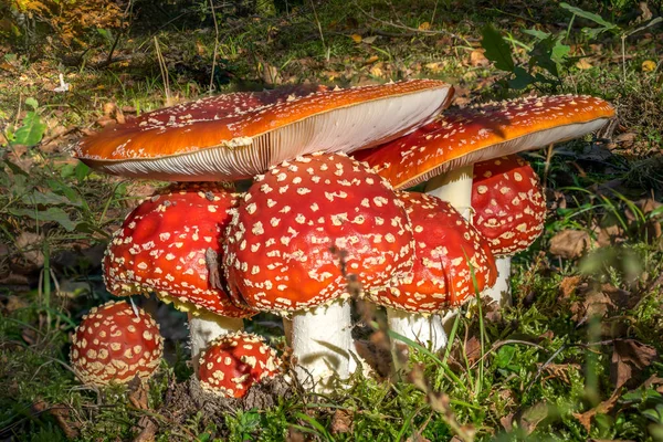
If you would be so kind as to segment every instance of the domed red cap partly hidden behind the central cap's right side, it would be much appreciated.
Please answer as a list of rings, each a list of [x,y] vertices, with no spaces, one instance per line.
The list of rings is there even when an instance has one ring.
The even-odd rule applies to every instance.
[[[451,204],[425,193],[397,194],[412,222],[414,265],[397,284],[369,292],[372,302],[399,311],[439,313],[495,283],[497,270],[488,242]]]

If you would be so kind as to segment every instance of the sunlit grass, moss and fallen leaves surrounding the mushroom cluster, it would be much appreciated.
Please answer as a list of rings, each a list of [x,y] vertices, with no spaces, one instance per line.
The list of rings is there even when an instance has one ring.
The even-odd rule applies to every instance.
[[[662,7],[4,0],[0,438],[663,440]],[[514,260],[513,307],[466,307],[449,351],[417,350],[408,379],[357,377],[333,397],[299,391],[215,415],[176,400],[190,375],[185,318],[143,299],[168,346],[147,391],[76,382],[69,336],[109,298],[106,242],[160,183],[93,172],[69,157],[71,143],[210,92],[411,77],[453,83],[457,106],[579,93],[618,108],[598,137],[527,155],[549,212],[545,235]],[[251,327],[283,349],[274,320]],[[367,345],[383,344],[376,333]]]

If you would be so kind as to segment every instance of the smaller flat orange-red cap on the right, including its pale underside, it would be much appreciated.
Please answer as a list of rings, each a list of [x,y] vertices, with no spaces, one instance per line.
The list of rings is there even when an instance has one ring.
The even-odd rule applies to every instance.
[[[491,158],[577,138],[614,116],[606,101],[586,95],[525,97],[448,112],[402,138],[355,158],[396,189]]]

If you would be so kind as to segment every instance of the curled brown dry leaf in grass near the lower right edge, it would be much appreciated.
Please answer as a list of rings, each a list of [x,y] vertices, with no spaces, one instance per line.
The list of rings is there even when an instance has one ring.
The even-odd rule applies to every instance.
[[[656,360],[659,354],[654,347],[634,339],[614,339],[610,378],[617,388],[622,387]]]

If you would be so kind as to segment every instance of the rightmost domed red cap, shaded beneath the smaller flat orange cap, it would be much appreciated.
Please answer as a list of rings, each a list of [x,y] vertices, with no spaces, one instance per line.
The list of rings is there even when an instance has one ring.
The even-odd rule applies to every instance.
[[[474,165],[472,222],[497,256],[526,250],[544,231],[546,197],[538,176],[517,155]]]

